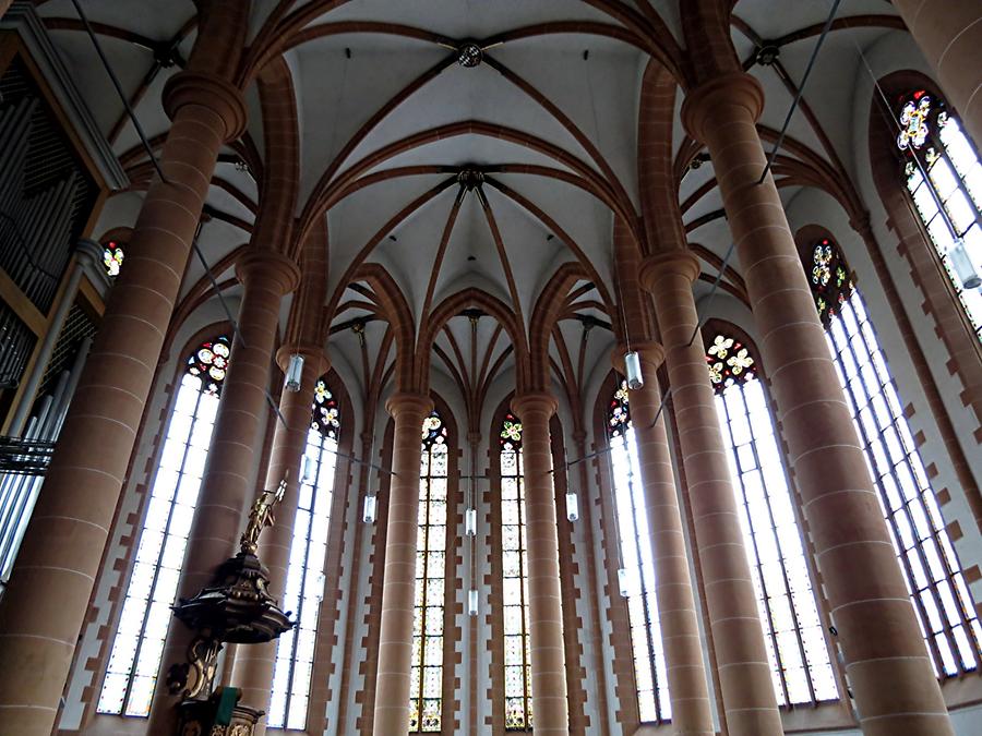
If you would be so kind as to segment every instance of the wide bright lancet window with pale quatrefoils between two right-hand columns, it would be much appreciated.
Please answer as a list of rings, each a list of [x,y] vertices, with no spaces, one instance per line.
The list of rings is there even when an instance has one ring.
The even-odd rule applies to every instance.
[[[730,472],[774,688],[783,705],[838,697],[785,468],[757,365],[717,334],[706,360],[730,446]]]

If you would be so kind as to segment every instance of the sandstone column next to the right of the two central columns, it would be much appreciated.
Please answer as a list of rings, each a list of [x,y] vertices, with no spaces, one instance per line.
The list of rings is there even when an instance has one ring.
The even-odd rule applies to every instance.
[[[661,641],[669,677],[672,727],[679,736],[707,736],[716,733],[709,687],[699,637],[699,614],[692,593],[682,512],[675,491],[675,475],[664,432],[664,415],[656,415],[661,406],[658,366],[664,351],[657,342],[632,343],[640,360],[645,385],[631,391],[631,420],[637,439],[645,515],[650,530],[649,543],[655,560],[655,595],[661,624]],[[623,373],[625,349],[613,355],[614,367]]]

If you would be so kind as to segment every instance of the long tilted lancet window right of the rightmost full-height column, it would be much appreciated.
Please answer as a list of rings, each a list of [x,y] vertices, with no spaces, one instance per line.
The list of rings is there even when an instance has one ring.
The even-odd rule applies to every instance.
[[[810,265],[818,314],[935,671],[977,669],[982,628],[862,293],[827,238],[812,246]]]

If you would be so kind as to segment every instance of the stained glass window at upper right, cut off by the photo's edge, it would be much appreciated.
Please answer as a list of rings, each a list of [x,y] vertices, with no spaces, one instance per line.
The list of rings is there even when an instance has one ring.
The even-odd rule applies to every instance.
[[[975,335],[982,339],[982,162],[944,100],[900,100],[897,148],[907,190]],[[967,277],[974,272],[975,279]]]

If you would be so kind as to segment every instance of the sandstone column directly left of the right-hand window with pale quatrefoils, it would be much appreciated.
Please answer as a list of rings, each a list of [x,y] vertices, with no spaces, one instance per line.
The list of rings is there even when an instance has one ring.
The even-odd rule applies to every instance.
[[[698,324],[692,297],[698,273],[695,257],[680,251],[646,258],[642,282],[655,298],[661,328],[727,725],[732,736],[779,736],[781,716],[702,337],[690,345]]]

